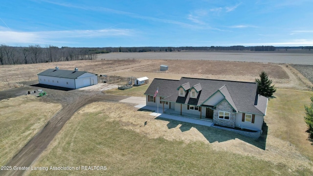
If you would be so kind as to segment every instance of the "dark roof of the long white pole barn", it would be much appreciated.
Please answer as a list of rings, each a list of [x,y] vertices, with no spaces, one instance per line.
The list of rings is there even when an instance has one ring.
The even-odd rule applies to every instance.
[[[87,73],[87,71],[47,69],[41,73],[38,73],[37,75],[76,79],[77,77],[81,76],[84,73]]]

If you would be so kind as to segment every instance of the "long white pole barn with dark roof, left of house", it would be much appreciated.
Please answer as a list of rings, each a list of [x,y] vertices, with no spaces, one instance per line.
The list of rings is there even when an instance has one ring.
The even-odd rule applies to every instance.
[[[98,84],[97,74],[87,71],[47,69],[38,75],[39,84],[57,86],[62,88],[83,88]]]

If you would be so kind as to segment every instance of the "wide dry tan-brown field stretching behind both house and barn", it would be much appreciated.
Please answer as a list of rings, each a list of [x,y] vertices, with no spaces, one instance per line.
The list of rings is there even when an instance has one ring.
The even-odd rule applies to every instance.
[[[160,65],[168,65],[169,70],[157,71]],[[42,63],[30,65],[1,66],[0,90],[14,88],[23,81],[37,80],[37,74],[48,69],[59,66],[60,69],[86,70],[96,74],[121,77],[143,77],[179,79],[181,76],[198,77],[208,79],[223,79],[235,81],[254,82],[259,73],[265,70],[269,78],[273,80],[276,87],[307,89],[288,69],[281,65],[226,61],[197,61],[197,60],[89,60]],[[286,68],[286,67],[285,67]],[[123,84],[126,84],[123,83]],[[22,84],[20,84],[22,85]]]

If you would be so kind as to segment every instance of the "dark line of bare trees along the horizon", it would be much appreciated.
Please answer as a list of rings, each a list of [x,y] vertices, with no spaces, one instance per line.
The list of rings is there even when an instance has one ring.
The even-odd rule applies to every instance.
[[[172,52],[172,51],[223,51],[223,50],[249,50],[249,51],[275,51],[276,49],[313,49],[313,46],[181,46],[181,47],[57,47],[48,45],[29,45],[28,47],[14,47],[0,44],[0,64],[36,64],[46,62],[92,60],[97,54],[111,52]]]

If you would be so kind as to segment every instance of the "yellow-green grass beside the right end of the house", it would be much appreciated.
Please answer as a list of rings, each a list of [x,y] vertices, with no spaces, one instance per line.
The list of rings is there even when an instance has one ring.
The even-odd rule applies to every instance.
[[[278,88],[274,93],[276,98],[268,101],[268,111],[265,121],[268,133],[289,141],[298,150],[313,161],[313,146],[308,141],[308,127],[304,122],[304,105],[310,105],[313,91]]]

